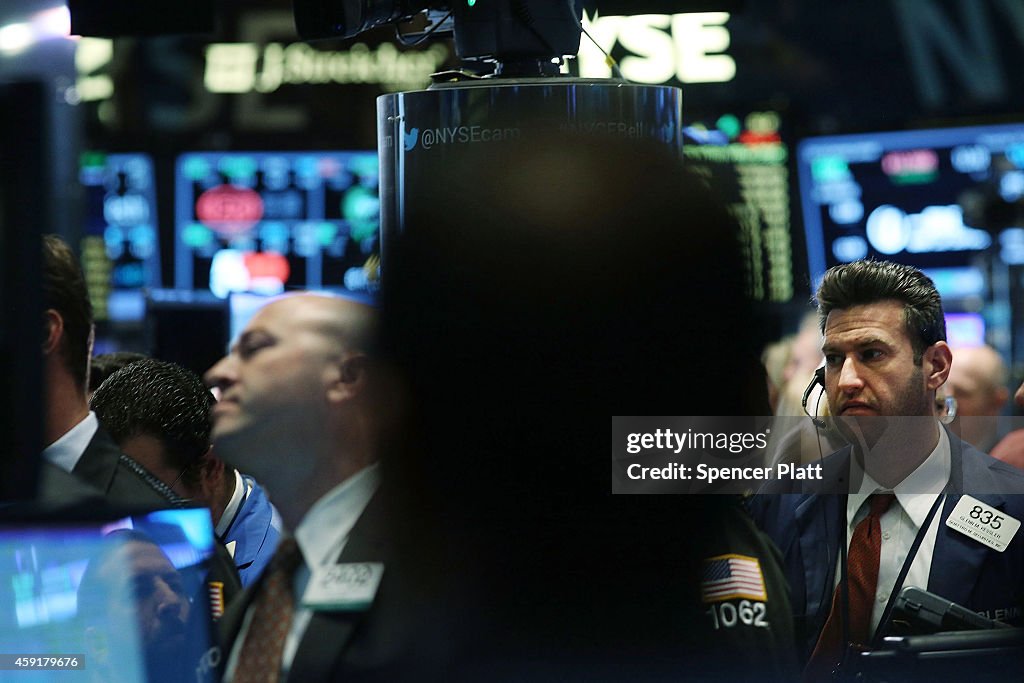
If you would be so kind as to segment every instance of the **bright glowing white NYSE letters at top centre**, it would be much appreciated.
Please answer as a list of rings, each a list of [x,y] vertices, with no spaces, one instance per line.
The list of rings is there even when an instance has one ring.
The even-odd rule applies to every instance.
[[[598,45],[611,52],[618,44],[631,54],[620,63],[623,76],[637,83],[724,83],[736,75],[725,51],[731,37],[728,12],[595,16],[584,26]],[[586,37],[580,44],[580,76],[608,78],[611,68]]]

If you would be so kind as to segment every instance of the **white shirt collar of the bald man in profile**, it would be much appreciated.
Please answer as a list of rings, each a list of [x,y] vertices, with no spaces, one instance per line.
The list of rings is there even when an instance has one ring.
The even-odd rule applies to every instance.
[[[295,540],[310,568],[333,564],[380,485],[377,464],[365,467],[323,496],[295,529]]]

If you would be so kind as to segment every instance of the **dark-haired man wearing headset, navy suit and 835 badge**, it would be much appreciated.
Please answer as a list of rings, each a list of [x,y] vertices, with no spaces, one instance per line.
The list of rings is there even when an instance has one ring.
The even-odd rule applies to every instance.
[[[784,556],[805,680],[877,644],[901,588],[1012,623],[1024,603],[1024,476],[936,418],[953,357],[932,281],[857,261],[829,269],[816,298],[819,378],[850,445],[823,459],[822,481],[800,482],[813,490],[752,504]]]

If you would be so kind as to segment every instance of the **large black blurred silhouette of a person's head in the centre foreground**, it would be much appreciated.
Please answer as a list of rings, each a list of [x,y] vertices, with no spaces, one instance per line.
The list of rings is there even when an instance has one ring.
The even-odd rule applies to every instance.
[[[642,140],[465,145],[418,181],[384,252],[410,392],[384,466],[441,540],[407,547],[483,587],[496,642],[699,648],[673,649],[702,618],[705,531],[682,520],[723,497],[613,497],[608,441],[613,416],[767,413],[735,220]]]

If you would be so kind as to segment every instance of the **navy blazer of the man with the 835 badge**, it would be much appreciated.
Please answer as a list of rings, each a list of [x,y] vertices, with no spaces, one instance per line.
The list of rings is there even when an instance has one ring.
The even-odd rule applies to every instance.
[[[1024,530],[1004,552],[945,525],[962,495],[1024,521],[1024,472],[981,453],[949,434],[949,494],[939,524],[927,590],[989,617],[1020,625],[1024,608]],[[751,514],[779,547],[790,583],[798,647],[806,659],[824,626],[836,582],[839,544],[846,542],[846,496],[852,449],[822,461],[823,479],[807,493],[761,494]]]

